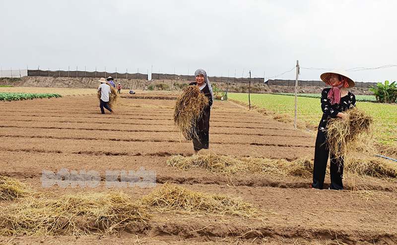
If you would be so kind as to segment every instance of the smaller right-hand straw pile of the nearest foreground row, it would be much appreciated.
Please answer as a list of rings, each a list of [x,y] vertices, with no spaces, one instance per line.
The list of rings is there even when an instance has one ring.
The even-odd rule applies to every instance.
[[[159,190],[143,197],[142,203],[160,212],[230,214],[244,218],[260,215],[260,209],[243,202],[241,197],[204,194],[168,184],[164,184]]]

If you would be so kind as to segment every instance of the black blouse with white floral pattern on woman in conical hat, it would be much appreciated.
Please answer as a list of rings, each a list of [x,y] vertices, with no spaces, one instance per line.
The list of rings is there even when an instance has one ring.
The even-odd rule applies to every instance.
[[[331,88],[327,88],[321,92],[321,109],[323,110],[323,117],[319,124],[319,130],[323,132],[329,119],[335,118],[339,112],[346,111],[351,106],[356,106],[356,97],[350,92],[348,92],[346,96],[340,98],[339,104],[331,105],[331,99],[328,98],[330,90]]]

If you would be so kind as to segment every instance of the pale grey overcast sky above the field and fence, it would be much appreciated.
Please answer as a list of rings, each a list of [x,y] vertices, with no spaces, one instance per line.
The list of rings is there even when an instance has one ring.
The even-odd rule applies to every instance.
[[[394,81],[396,10],[396,0],[0,0],[0,66],[294,80],[299,60],[300,80],[343,67],[355,81]],[[385,65],[395,66],[351,70]]]

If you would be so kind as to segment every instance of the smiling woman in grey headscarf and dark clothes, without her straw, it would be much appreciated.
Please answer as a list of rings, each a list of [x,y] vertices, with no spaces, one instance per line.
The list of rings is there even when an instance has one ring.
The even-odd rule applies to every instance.
[[[208,81],[207,73],[198,69],[195,72],[196,82],[190,83],[189,85],[196,85],[199,87],[200,92],[208,98],[208,104],[205,105],[201,116],[197,122],[197,137],[193,137],[193,147],[195,149],[195,155],[199,154],[200,149],[208,149],[209,145],[209,115],[212,106],[214,95],[212,92],[211,84]]]

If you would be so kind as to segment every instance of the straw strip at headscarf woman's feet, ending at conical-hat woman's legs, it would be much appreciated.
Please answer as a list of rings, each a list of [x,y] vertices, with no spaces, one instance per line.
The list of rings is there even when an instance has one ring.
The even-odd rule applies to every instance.
[[[236,157],[209,153],[206,155],[181,156],[168,158],[167,164],[177,169],[199,167],[210,172],[221,173],[269,173],[279,175],[311,176],[313,161],[299,158],[294,161],[268,159],[264,157]]]

